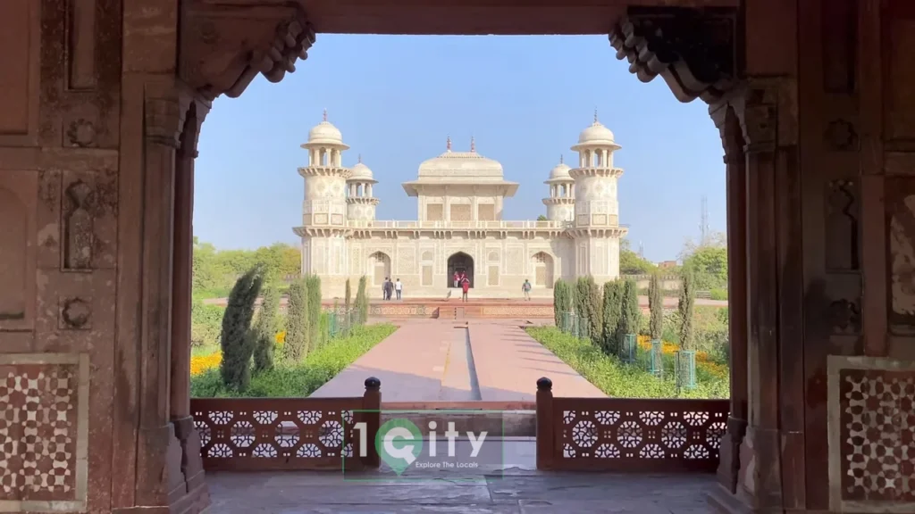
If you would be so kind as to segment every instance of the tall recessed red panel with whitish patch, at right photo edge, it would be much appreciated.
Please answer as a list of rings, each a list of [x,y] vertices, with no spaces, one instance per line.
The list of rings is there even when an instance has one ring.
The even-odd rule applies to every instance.
[[[915,180],[887,178],[889,327],[915,334]]]

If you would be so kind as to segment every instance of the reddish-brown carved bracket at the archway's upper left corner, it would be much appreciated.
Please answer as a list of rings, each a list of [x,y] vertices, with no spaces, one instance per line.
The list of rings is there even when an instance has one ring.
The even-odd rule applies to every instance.
[[[297,2],[188,0],[178,75],[208,100],[223,93],[235,98],[258,73],[283,80],[314,42],[315,30]]]

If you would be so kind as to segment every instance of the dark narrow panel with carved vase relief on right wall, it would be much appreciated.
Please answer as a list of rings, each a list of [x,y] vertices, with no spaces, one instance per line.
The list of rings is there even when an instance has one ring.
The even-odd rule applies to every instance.
[[[826,269],[856,271],[860,266],[858,188],[854,180],[831,180],[826,187]]]

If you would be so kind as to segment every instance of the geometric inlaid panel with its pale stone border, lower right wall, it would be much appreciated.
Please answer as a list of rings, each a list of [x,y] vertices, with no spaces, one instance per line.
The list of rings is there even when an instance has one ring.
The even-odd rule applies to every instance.
[[[915,511],[915,365],[830,356],[828,367],[830,510]]]

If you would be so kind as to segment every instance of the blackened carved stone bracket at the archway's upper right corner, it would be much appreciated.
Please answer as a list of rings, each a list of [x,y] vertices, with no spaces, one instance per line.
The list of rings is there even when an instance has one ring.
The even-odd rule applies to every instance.
[[[639,80],[660,75],[680,102],[717,102],[737,82],[737,9],[631,7],[610,44]]]

